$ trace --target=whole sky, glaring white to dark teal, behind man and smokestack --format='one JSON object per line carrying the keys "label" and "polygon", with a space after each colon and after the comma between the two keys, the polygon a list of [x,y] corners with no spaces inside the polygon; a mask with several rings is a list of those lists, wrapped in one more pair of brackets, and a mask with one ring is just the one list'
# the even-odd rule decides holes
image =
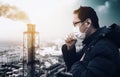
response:
{"label": "whole sky, glaring white to dark teal, behind man and smokestack", "polygon": [[93,7],[100,26],[120,24],[120,0],[0,0],[23,11],[28,22],[0,16],[0,40],[22,40],[27,23],[36,25],[41,40],[64,38],[72,32],[73,10],[79,6]]}

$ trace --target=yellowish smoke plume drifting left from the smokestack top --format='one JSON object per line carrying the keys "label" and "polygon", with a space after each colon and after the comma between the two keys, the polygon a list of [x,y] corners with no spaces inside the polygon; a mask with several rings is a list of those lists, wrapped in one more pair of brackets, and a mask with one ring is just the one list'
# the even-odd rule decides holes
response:
{"label": "yellowish smoke plume drifting left from the smokestack top", "polygon": [[9,18],[12,20],[19,20],[23,22],[29,22],[29,17],[24,11],[19,10],[16,6],[9,4],[0,4],[0,17]]}

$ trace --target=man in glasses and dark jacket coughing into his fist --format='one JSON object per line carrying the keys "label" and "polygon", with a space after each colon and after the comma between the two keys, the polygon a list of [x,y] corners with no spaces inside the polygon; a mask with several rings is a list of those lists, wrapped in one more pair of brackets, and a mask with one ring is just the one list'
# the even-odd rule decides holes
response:
{"label": "man in glasses and dark jacket coughing into his fist", "polygon": [[119,50],[105,37],[105,27],[99,27],[99,19],[91,7],[74,11],[74,27],[85,34],[83,48],[76,52],[76,38],[69,35],[62,46],[67,71],[73,77],[118,77]]}

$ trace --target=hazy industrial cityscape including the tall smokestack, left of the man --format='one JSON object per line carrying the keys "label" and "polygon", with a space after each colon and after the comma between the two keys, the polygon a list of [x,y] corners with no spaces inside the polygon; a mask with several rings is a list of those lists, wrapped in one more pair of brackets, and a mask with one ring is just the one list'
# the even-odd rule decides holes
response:
{"label": "hazy industrial cityscape including the tall smokestack, left of the man", "polygon": [[71,77],[65,72],[61,46],[42,46],[39,35],[35,24],[27,24],[22,44],[1,48],[0,77]]}

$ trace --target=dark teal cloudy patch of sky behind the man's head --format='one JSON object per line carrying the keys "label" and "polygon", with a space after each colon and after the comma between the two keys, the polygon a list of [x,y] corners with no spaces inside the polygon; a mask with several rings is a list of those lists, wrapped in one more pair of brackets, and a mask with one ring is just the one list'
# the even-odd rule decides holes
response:
{"label": "dark teal cloudy patch of sky behind the man's head", "polygon": [[120,24],[120,0],[82,0],[80,4],[96,10],[101,26]]}

